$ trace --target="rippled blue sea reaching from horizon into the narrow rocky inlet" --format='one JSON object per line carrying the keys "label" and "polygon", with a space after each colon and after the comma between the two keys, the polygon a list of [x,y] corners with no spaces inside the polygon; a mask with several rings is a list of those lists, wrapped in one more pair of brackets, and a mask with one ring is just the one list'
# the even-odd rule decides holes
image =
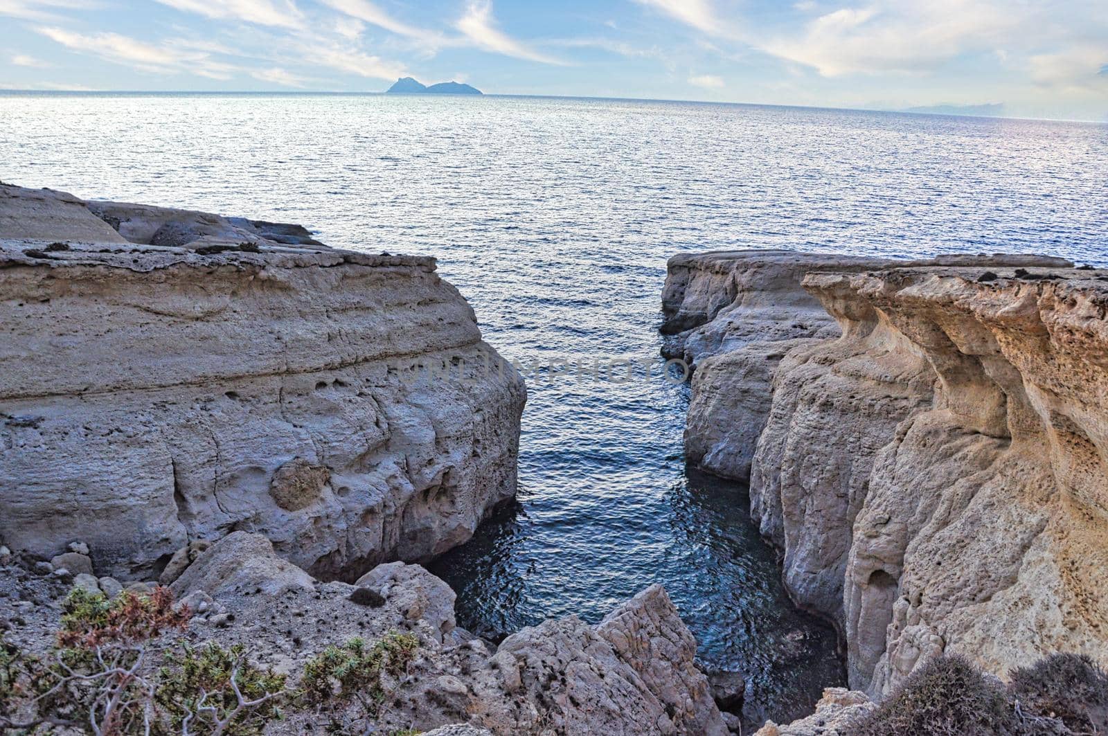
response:
{"label": "rippled blue sea reaching from horizon into the narrow rocky inlet", "polygon": [[[1108,126],[607,100],[0,95],[0,180],[299,222],[432,254],[530,361],[657,356],[666,258],[792,247],[1045,252],[1108,265]],[[689,472],[685,386],[531,381],[520,494],[433,570],[463,625],[597,621],[661,582],[763,714],[842,673],[746,490]]]}

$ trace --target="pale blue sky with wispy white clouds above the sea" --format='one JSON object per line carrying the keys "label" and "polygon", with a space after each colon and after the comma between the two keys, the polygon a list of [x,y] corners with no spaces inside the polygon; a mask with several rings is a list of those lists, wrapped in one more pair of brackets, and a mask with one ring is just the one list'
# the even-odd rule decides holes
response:
{"label": "pale blue sky with wispy white clouds above the sea", "polygon": [[1108,120],[1108,0],[0,0],[0,89],[705,100]]}

